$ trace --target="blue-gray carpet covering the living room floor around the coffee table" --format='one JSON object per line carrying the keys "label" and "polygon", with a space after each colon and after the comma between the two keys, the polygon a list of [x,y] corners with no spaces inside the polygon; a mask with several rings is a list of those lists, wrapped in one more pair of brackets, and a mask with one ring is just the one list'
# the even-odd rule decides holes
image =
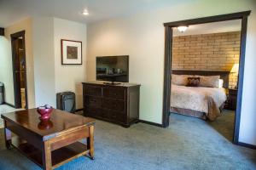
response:
{"label": "blue-gray carpet covering the living room floor around the coffee table", "polygon": [[[168,128],[143,123],[124,128],[96,121],[96,159],[80,157],[57,169],[256,169],[256,151],[231,144],[218,132],[226,128],[216,130],[216,124],[224,126],[221,122],[176,114]],[[4,148],[3,130],[0,141],[0,169],[40,169],[17,151]]]}

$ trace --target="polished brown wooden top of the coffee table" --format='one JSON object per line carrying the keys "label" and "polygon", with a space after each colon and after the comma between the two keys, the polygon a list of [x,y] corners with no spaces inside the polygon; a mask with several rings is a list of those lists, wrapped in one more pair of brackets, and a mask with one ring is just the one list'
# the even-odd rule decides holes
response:
{"label": "polished brown wooden top of the coffee table", "polygon": [[95,124],[95,121],[89,117],[74,115],[61,110],[52,111],[50,122],[52,122],[53,127],[44,130],[38,127],[40,120],[36,109],[15,111],[3,114],[1,117],[10,123],[13,122],[17,126],[26,128],[26,131],[43,140],[55,138],[63,133],[73,132],[76,128]]}

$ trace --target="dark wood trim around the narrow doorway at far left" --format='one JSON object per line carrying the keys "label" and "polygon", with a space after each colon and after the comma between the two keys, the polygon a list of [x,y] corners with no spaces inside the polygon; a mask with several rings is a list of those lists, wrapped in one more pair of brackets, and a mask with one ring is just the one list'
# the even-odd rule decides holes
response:
{"label": "dark wood trim around the narrow doorway at far left", "polygon": [[[14,41],[18,37],[22,37],[22,44],[24,48],[24,55],[25,55],[25,71],[26,71],[26,43],[25,43],[25,31],[19,31],[14,34],[10,35],[11,43],[12,43],[12,60],[13,60],[13,79],[14,79],[14,92],[15,92],[15,108],[20,108],[19,100],[16,96],[18,96],[19,91],[17,90],[17,82],[16,82],[16,74],[15,74],[15,48],[14,48]],[[28,99],[27,99],[27,81],[26,81],[26,74],[25,74],[25,95],[26,95],[26,109],[28,108]],[[21,98],[21,97],[20,97]]]}

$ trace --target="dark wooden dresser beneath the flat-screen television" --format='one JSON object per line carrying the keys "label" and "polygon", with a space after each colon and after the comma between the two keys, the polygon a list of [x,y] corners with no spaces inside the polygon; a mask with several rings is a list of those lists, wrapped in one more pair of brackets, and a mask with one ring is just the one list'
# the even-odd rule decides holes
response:
{"label": "dark wooden dresser beneath the flat-screen television", "polygon": [[113,122],[123,127],[139,119],[140,85],[83,82],[84,116]]}

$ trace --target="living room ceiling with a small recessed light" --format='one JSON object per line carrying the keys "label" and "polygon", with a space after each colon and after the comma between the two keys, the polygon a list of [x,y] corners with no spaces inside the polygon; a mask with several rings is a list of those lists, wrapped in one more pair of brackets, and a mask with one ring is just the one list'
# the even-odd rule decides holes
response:
{"label": "living room ceiling with a small recessed light", "polygon": [[[30,16],[87,23],[191,1],[195,0],[0,0],[0,27]],[[84,8],[90,15],[81,14]]]}

